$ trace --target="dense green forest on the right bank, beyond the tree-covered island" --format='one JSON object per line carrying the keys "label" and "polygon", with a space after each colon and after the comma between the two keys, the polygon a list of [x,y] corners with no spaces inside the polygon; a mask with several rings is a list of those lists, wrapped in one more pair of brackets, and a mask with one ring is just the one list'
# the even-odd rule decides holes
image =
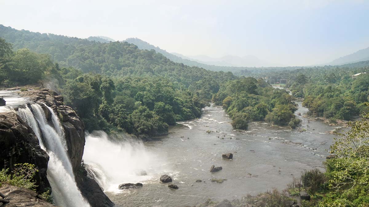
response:
{"label": "dense green forest on the right bank, beyond the tree-covered island", "polygon": [[[362,73],[359,76],[354,74]],[[366,73],[366,74],[365,74]],[[369,97],[369,62],[358,62],[340,67],[313,67],[291,71],[260,73],[271,83],[287,79],[286,87],[296,98],[304,98],[303,106],[309,115],[335,122],[351,120],[368,112],[364,102]]]}

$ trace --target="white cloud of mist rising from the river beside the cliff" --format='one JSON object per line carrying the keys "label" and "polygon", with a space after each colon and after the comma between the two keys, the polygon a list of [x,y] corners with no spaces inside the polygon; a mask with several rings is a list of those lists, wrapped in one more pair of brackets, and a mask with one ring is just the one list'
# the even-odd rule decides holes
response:
{"label": "white cloud of mist rising from the river beside the cliff", "polygon": [[109,137],[103,131],[86,135],[83,160],[100,187],[113,192],[122,183],[149,182],[168,168],[165,158],[146,149],[141,140],[127,134]]}

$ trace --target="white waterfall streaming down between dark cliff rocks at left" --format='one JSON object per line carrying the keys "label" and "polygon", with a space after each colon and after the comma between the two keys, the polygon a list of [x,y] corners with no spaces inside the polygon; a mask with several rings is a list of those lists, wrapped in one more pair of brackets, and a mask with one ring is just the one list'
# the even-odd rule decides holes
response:
{"label": "white waterfall streaming down between dark cliff rocks at left", "polygon": [[[58,206],[90,206],[80,193],[75,182],[72,164],[67,154],[62,125],[54,111],[51,113],[52,125],[47,120],[44,110],[33,103],[18,110],[18,115],[33,129],[40,146],[49,155],[47,177],[52,188],[54,202]],[[31,110],[32,109],[32,110]]]}

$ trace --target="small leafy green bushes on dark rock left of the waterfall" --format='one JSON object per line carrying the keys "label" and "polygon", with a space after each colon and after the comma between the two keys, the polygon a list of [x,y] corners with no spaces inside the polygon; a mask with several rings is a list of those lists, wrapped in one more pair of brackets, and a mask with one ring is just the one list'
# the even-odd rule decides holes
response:
{"label": "small leafy green bushes on dark rock left of the waterfall", "polygon": [[8,174],[9,168],[0,171],[0,182],[8,183],[9,185],[24,187],[35,190],[37,187],[36,181],[33,180],[38,169],[33,164],[15,164],[11,174]]}

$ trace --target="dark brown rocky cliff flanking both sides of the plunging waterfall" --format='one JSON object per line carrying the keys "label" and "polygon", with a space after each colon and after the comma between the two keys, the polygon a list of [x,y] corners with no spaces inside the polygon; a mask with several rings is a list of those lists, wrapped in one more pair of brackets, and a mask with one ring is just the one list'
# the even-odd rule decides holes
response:
{"label": "dark brown rocky cliff flanking both sides of the plunging waterfall", "polygon": [[[49,106],[59,116],[65,132],[68,155],[75,172],[77,185],[91,206],[113,206],[114,204],[104,194],[100,186],[87,175],[86,170],[81,166],[85,146],[85,124],[72,108],[64,105],[62,95],[58,95],[56,92],[46,88],[19,91],[18,93],[29,101],[39,103],[42,109],[44,109],[46,119],[49,121],[52,117],[45,105]],[[39,147],[38,139],[32,129],[12,112],[0,113],[0,124],[0,142],[9,146],[0,147],[0,160],[6,155],[7,157],[5,156],[4,159],[12,159],[12,164],[23,162],[35,164],[40,169],[39,180],[44,182],[44,184],[41,182],[39,184],[49,187],[47,179],[45,180],[48,157],[45,151]],[[3,128],[4,130],[2,130]],[[20,145],[22,143],[24,144]]]}

